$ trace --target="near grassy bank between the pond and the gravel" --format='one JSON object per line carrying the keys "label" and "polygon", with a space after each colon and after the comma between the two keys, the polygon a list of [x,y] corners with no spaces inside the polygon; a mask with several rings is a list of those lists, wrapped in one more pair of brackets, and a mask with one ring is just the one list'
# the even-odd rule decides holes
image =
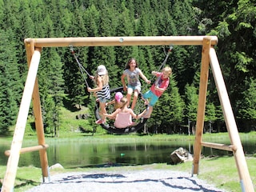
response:
{"label": "near grassy bank between the pond and the gravel", "polygon": [[[254,181],[254,188],[256,189],[256,158],[246,158],[246,162],[249,167],[250,177]],[[64,172],[93,172],[93,171],[114,171],[114,170],[147,170],[147,169],[168,169],[184,171],[191,173],[191,162],[178,164],[171,166],[167,164],[152,164],[144,166],[114,166],[106,168],[76,168],[76,169],[65,169],[65,170],[51,170],[50,174],[58,174]],[[3,178],[5,166],[0,166],[0,178]],[[239,184],[238,171],[235,166],[233,157],[222,157],[222,158],[202,158],[200,161],[200,173],[194,175],[202,180],[205,180],[219,189],[225,189],[227,191],[241,191]],[[15,182],[14,191],[22,192],[28,190],[34,186],[38,186],[42,181],[41,169],[36,167],[19,167]]]}

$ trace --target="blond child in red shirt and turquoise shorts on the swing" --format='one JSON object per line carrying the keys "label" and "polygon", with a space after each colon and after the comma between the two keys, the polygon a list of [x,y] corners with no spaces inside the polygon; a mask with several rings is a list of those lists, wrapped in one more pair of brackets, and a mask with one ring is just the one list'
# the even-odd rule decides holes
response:
{"label": "blond child in red shirt and turquoise shorts on the swing", "polygon": [[[172,70],[170,66],[166,66],[162,69],[162,72],[152,71],[151,74],[154,74],[158,78],[150,87],[150,90],[146,91],[146,93],[142,95],[142,99],[145,101],[145,104],[149,105],[149,110],[143,116],[143,118],[150,118],[154,104],[158,101],[158,98],[160,98],[160,96],[169,86],[169,77],[172,74]],[[150,99],[150,102],[148,99]]]}

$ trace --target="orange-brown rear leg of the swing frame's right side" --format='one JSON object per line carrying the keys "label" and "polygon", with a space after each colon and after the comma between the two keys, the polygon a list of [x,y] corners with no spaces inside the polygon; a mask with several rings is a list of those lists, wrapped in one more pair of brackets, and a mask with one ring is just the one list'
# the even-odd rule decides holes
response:
{"label": "orange-brown rear leg of the swing frame's right side", "polygon": [[198,114],[196,123],[196,133],[194,141],[194,162],[193,162],[193,174],[198,174],[199,160],[201,157],[201,142],[202,142],[202,130],[205,118],[206,110],[206,92],[207,83],[209,76],[209,51],[210,51],[210,37],[203,39],[202,44],[202,65],[200,72],[200,85],[199,85],[199,96],[198,96]]}

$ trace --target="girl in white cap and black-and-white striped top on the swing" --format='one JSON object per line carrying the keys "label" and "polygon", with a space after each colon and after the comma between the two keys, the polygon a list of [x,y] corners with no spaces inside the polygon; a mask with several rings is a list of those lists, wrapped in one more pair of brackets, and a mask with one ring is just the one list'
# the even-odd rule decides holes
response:
{"label": "girl in white cap and black-and-white striped top on the swing", "polygon": [[[106,67],[103,65],[98,66],[97,74],[95,75],[94,81],[97,87],[91,89],[87,87],[88,92],[94,92],[97,95],[97,101],[99,102],[100,114],[106,114],[106,101],[110,99],[110,86],[109,86],[109,75]],[[106,117],[102,116],[95,123],[102,124],[106,122]]]}

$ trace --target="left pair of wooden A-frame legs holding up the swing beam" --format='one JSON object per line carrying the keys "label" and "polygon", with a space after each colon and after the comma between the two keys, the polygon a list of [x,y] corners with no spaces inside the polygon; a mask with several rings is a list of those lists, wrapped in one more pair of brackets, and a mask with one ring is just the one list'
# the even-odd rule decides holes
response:
{"label": "left pair of wooden A-frame legs holding up the swing beam", "polygon": [[[14,182],[17,174],[19,156],[22,152],[22,142],[25,133],[26,119],[30,109],[31,98],[33,100],[35,126],[38,135],[38,145],[46,146],[42,124],[42,111],[39,98],[38,80],[36,78],[41,56],[41,50],[42,48],[40,47],[35,49],[33,41],[26,42],[26,56],[29,71],[27,74],[26,84],[22,94],[22,102],[18,111],[18,118],[14,130],[13,142],[11,143],[11,147],[9,150],[6,174],[3,180],[1,191],[9,192],[14,190]],[[40,147],[36,146],[34,148]],[[32,150],[34,149],[28,150],[28,152]],[[42,166],[42,176],[43,178],[46,178],[48,177],[48,160],[46,155],[46,147],[41,147],[41,149],[39,150],[39,156]]]}

